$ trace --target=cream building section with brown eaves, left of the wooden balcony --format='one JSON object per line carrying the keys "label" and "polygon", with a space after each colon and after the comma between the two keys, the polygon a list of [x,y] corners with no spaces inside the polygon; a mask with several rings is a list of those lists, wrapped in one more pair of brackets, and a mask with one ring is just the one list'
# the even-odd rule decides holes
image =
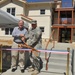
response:
{"label": "cream building section with brown eaves, left of the wooden balcony", "polygon": [[[26,2],[24,0],[1,0],[0,9],[11,13],[17,18],[25,20],[25,16],[37,20],[42,29],[42,38],[49,38],[51,32],[51,2]],[[21,16],[22,15],[22,16]],[[9,29],[12,31],[12,28]],[[1,29],[1,36],[10,36],[8,28]],[[8,34],[6,34],[8,33]]]}

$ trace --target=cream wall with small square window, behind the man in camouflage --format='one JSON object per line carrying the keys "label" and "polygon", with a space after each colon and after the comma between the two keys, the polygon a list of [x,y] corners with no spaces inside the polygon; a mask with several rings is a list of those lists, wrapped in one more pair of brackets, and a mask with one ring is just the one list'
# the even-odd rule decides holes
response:
{"label": "cream wall with small square window, behind the man in camouflage", "polygon": [[[45,14],[40,14],[40,9],[45,9]],[[44,27],[42,38],[49,38],[51,32],[51,8],[50,5],[30,5],[27,8],[28,16],[37,20],[39,27]]]}

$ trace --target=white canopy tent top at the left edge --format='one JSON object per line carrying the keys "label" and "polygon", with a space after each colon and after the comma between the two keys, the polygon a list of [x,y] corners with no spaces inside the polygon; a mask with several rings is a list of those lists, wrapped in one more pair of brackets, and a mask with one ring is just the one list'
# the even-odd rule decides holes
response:
{"label": "white canopy tent top at the left edge", "polygon": [[[18,18],[0,9],[0,27],[15,27],[18,21]],[[24,26],[28,27],[27,24]]]}

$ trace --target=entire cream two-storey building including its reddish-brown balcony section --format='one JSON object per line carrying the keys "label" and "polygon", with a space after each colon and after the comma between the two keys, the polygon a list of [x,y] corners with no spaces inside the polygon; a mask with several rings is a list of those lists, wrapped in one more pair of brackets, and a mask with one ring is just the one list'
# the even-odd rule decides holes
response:
{"label": "entire cream two-storey building including its reddish-brown balcony section", "polygon": [[[54,29],[56,42],[75,41],[74,0],[0,0],[0,9],[27,22],[37,20],[43,39]],[[11,36],[10,31],[12,28],[1,28],[0,36]]]}

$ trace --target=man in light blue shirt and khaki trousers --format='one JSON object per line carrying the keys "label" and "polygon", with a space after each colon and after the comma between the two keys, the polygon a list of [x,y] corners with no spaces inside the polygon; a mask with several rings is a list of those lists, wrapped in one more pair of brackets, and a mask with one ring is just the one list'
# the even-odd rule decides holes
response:
{"label": "man in light blue shirt and khaki trousers", "polygon": [[[27,30],[24,27],[24,21],[20,20],[18,22],[18,27],[15,27],[12,36],[14,37],[12,48],[18,48],[18,44],[23,44],[22,38],[27,34]],[[24,39],[24,38],[23,38]],[[24,54],[25,51],[18,51],[18,50],[12,50],[12,60],[11,60],[11,67],[12,72],[14,72],[17,69],[17,63],[20,66],[21,72],[24,72]],[[18,62],[17,62],[18,61]]]}

